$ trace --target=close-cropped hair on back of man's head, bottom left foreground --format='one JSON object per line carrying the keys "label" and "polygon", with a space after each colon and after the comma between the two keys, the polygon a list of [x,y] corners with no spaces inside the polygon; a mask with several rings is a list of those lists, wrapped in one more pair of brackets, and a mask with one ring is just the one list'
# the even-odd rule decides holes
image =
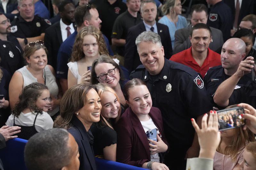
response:
{"label": "close-cropped hair on back of man's head, bottom left foreground", "polygon": [[60,170],[72,156],[68,147],[69,133],[53,128],[32,136],[25,146],[24,159],[28,170]]}

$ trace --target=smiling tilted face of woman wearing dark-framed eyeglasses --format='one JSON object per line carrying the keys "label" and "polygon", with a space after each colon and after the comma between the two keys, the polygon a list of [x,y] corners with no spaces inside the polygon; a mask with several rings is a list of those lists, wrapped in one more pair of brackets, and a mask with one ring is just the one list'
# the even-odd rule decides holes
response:
{"label": "smiling tilted face of woman wearing dark-framed eyeglasses", "polygon": [[[113,66],[110,63],[98,63],[94,67],[96,77],[99,77],[102,74],[107,74],[109,70],[112,70],[114,68],[115,68],[115,66]],[[113,75],[111,77],[107,75],[107,79],[103,80],[103,81],[98,79],[98,81],[100,83],[104,83],[112,88],[115,88],[119,84],[119,80],[120,80],[120,73],[117,68],[115,69],[115,75]]]}

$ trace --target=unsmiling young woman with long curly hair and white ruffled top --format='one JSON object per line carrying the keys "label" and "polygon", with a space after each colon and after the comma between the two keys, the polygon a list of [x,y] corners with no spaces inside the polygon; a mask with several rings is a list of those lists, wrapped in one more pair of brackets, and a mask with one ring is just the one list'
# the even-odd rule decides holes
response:
{"label": "unsmiling young woman with long curly hair and white ruffled top", "polygon": [[92,63],[102,54],[107,55],[108,50],[100,30],[94,26],[80,30],[68,63],[68,88],[90,83]]}

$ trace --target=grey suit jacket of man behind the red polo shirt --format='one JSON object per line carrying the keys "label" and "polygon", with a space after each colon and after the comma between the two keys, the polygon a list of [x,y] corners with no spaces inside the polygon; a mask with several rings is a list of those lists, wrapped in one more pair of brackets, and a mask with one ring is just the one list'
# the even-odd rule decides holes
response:
{"label": "grey suit jacket of man behind the red polo shirt", "polygon": [[[209,45],[209,48],[212,51],[218,50],[223,45],[223,36],[222,32],[219,29],[210,27],[212,31],[212,42]],[[189,35],[191,33],[192,25],[179,29],[175,32],[175,41],[174,41],[174,48],[173,54],[179,53],[185,49],[191,47],[191,42],[189,40]]]}

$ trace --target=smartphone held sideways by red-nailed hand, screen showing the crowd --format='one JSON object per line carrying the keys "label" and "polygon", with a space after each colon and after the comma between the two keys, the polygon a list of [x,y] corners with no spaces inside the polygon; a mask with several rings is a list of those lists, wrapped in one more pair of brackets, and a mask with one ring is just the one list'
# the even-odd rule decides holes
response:
{"label": "smartphone held sideways by red-nailed hand, screen showing the crowd", "polygon": [[219,131],[238,128],[245,125],[243,107],[218,110],[217,113],[219,118]]}

